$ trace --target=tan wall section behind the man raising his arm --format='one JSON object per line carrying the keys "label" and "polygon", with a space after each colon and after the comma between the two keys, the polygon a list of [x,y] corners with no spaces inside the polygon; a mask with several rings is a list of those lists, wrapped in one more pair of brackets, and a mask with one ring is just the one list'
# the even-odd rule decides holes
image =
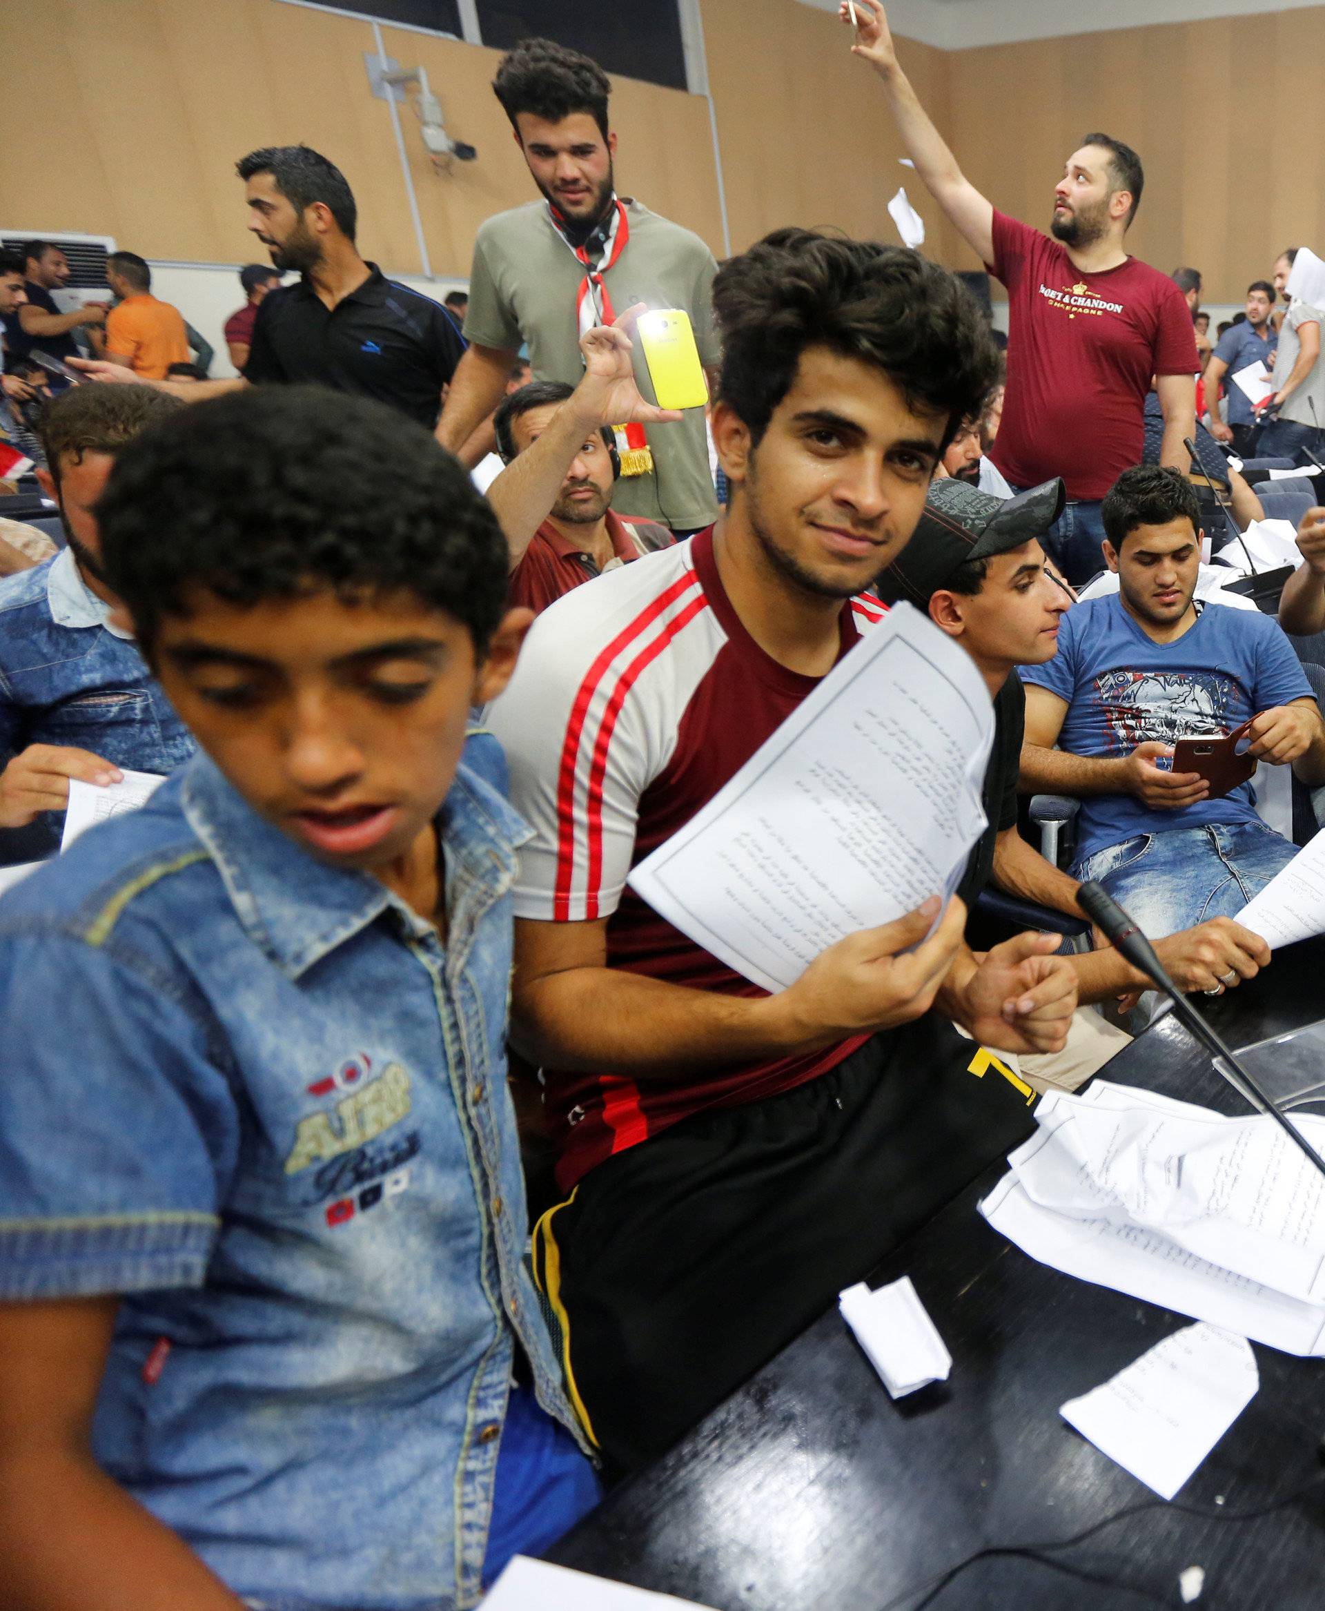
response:
{"label": "tan wall section behind the man raising his arm", "polygon": [[1127,140],[1146,169],[1129,248],[1240,303],[1285,245],[1325,255],[1325,151],[1304,124],[1275,130],[1322,53],[1325,6],[955,52],[945,132],[971,180],[1042,229],[1082,134]]}

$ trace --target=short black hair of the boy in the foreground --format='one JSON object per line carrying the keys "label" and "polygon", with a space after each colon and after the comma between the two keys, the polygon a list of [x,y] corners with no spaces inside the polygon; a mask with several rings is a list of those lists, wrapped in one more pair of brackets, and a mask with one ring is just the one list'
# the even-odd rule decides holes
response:
{"label": "short black hair of the boy in the foreground", "polygon": [[180,409],[126,445],[97,520],[148,656],[190,586],[240,606],[407,593],[480,656],[506,612],[506,538],[460,464],[383,403],[317,387]]}

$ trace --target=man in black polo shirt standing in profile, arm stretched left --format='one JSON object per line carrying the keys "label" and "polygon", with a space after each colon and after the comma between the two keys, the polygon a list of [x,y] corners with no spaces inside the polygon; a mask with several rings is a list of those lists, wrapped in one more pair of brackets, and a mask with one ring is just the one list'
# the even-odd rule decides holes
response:
{"label": "man in black polo shirt standing in profile, arm stretched left", "polygon": [[[388,280],[354,246],[356,206],[345,176],[306,145],[274,145],[237,164],[248,227],[295,285],[258,308],[241,380],[151,382],[187,403],[240,385],[322,385],[399,409],[433,430],[441,391],[465,350],[441,303]],[[80,364],[100,380],[114,366]],[[130,379],[134,379],[130,375]]]}

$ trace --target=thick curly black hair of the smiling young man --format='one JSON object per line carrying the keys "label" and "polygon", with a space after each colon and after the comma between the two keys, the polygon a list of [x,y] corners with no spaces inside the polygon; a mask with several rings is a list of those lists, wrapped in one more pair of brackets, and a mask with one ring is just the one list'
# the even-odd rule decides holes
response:
{"label": "thick curly black hair of the smiling young man", "polygon": [[755,445],[810,346],[877,364],[908,404],[947,412],[943,448],[998,383],[998,348],[976,298],[903,246],[778,229],[718,269],[713,313],[718,396]]}

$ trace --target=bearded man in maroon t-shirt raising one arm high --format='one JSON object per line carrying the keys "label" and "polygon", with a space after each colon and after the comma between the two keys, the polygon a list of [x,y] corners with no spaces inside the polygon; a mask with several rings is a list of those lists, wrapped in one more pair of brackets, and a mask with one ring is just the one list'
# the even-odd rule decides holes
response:
{"label": "bearded man in maroon t-shirt raising one arm high", "polygon": [[[848,8],[842,16],[850,24]],[[1067,507],[1048,548],[1072,583],[1104,569],[1100,504],[1141,462],[1151,377],[1164,414],[1159,462],[1183,475],[1196,429],[1196,338],[1174,282],[1124,251],[1141,200],[1137,153],[1088,134],[1055,188],[1048,235],[998,213],[966,179],[897,61],[879,0],[855,0],[853,53],[884,81],[916,172],[958,234],[1008,287],[1008,396],[992,459],[1013,487],[1061,475]]]}

